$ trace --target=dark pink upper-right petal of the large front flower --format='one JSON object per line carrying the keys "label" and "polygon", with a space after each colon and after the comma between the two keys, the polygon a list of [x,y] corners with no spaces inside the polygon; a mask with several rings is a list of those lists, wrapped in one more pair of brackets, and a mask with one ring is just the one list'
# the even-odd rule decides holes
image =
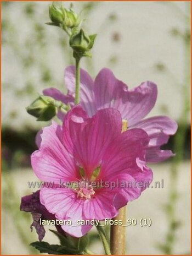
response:
{"label": "dark pink upper-right petal of the large front flower", "polygon": [[142,129],[131,129],[121,133],[105,151],[99,178],[109,180],[121,173],[137,172],[138,159],[144,160],[149,143],[148,134]]}

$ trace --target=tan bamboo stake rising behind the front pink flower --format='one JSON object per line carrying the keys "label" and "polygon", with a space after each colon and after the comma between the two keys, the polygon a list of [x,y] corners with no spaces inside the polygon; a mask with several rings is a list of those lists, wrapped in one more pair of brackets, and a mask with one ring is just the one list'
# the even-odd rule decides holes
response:
{"label": "tan bamboo stake rising behind the front pink flower", "polygon": [[[127,130],[128,123],[123,120],[122,132]],[[126,250],[126,206],[121,208],[118,215],[112,219],[122,221],[122,225],[111,225],[110,248],[113,255],[125,255]]]}

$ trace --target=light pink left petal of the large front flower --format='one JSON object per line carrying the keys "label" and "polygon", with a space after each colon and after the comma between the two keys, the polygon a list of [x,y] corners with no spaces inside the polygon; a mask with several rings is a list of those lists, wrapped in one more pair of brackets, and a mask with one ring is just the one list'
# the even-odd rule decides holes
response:
{"label": "light pink left petal of the large front flower", "polygon": [[80,177],[74,159],[61,142],[61,135],[61,127],[55,122],[44,127],[41,147],[31,155],[32,168],[42,181],[59,183]]}

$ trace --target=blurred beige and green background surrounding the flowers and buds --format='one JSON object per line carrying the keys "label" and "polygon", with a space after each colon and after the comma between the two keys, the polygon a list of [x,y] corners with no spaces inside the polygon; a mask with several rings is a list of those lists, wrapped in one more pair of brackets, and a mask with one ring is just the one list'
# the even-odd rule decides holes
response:
{"label": "blurred beige and green background surrounding the flowers and buds", "polygon": [[[48,123],[36,122],[25,107],[45,88],[65,91],[64,69],[74,63],[65,33],[45,24],[50,3],[2,2],[2,254],[38,254],[29,246],[37,241],[31,215],[19,205],[35,191],[27,187],[37,180],[30,154]],[[93,58],[82,67],[93,77],[111,68],[129,88],[154,81],[159,94],[149,116],[179,124],[166,145],[176,157],[150,165],[164,187],[127,206],[127,217],[152,221],[127,227],[127,254],[190,254],[190,2],[74,2],[74,9],[89,34],[98,34]],[[102,254],[94,230],[90,237],[90,248]],[[49,231],[44,241],[58,242]]]}

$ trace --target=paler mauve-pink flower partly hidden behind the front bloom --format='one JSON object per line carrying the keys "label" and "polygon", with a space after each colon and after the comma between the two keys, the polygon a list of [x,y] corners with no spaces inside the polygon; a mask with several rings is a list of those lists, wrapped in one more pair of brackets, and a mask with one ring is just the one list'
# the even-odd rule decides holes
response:
{"label": "paler mauve-pink flower partly hidden behind the front bloom", "polygon": [[[68,89],[67,95],[55,88],[46,89],[43,93],[74,106],[74,66],[65,70],[65,85]],[[127,119],[128,129],[144,129],[150,138],[146,152],[147,162],[163,161],[174,155],[171,150],[161,150],[160,147],[167,143],[170,135],[176,133],[177,123],[166,116],[142,120],[154,107],[157,99],[157,86],[153,82],[146,81],[133,89],[128,89],[127,85],[116,79],[108,68],[101,69],[94,81],[81,69],[80,97],[81,106],[88,116],[93,116],[97,110],[112,107],[120,111],[123,119]],[[63,118],[61,113],[59,117]]]}

